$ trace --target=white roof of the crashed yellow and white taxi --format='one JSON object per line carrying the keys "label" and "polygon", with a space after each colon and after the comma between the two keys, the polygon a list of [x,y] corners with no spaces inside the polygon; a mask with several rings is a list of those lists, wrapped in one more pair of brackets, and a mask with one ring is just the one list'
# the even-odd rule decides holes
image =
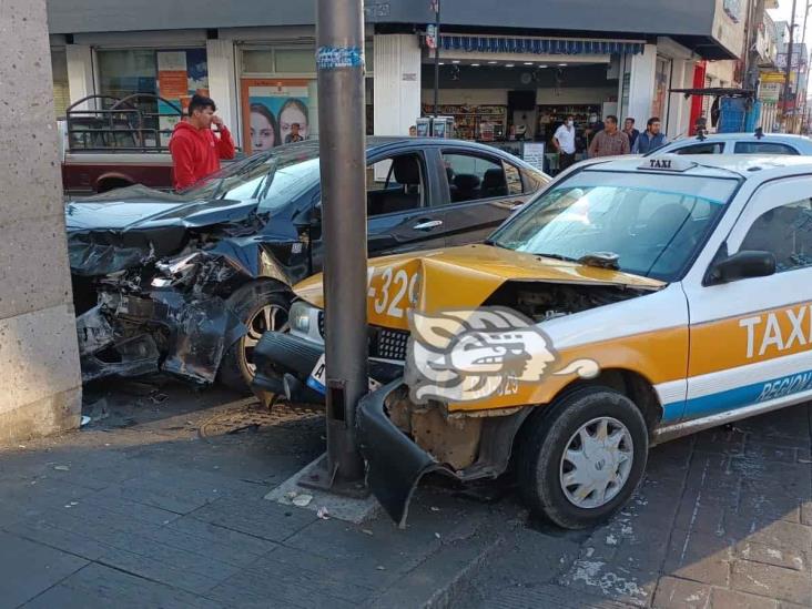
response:
{"label": "white roof of the crashed yellow and white taxi", "polygon": [[607,158],[605,162],[590,162],[583,171],[618,171],[652,173],[650,169],[641,169],[641,165],[649,163],[652,159],[668,158],[681,162],[696,163],[696,166],[683,172],[667,172],[676,175],[696,175],[702,177],[731,177],[731,173],[744,177],[764,179],[782,174],[812,174],[812,159],[809,156],[795,156],[789,154],[760,155],[760,154],[683,154],[674,155],[657,153],[651,156],[615,156]]}

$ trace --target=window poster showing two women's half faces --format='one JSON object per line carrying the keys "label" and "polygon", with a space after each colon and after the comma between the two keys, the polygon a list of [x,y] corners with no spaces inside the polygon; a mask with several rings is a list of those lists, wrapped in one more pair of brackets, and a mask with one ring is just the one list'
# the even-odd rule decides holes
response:
{"label": "window poster showing two women's half faces", "polygon": [[243,142],[247,153],[307,140],[311,89],[306,80],[243,79]]}

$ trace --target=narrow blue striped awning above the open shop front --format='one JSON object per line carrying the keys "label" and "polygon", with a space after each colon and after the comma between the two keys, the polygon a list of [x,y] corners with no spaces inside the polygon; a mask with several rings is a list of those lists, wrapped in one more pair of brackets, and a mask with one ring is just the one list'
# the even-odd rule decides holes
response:
{"label": "narrow blue striped awning above the open shop front", "polygon": [[637,40],[440,34],[440,49],[479,53],[532,53],[538,55],[639,54],[643,52],[644,45],[644,42]]}

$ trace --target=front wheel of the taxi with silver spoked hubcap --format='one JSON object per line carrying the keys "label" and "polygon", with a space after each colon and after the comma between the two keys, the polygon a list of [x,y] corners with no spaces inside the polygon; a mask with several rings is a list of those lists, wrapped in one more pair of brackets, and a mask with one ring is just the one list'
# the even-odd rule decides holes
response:
{"label": "front wheel of the taxi with silver spoked hubcap", "polygon": [[[646,422],[633,402],[608,387],[576,389],[549,408],[528,419],[521,435],[519,490],[532,512],[560,527],[593,527],[622,509],[642,480],[649,449]],[[608,445],[599,439],[603,422]],[[565,458],[568,448],[572,460]]]}

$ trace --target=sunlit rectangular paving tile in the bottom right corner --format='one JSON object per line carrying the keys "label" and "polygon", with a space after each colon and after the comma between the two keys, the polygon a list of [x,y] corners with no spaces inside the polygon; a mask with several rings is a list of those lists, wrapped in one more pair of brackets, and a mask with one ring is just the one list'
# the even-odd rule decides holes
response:
{"label": "sunlit rectangular paving tile in the bottom right corner", "polygon": [[799,605],[809,603],[812,599],[812,579],[809,574],[749,560],[733,564],[731,588]]}

